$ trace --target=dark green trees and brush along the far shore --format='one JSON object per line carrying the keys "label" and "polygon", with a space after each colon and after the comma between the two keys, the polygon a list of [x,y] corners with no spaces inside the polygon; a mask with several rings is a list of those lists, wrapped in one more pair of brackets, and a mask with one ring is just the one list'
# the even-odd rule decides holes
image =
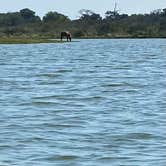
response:
{"label": "dark green trees and brush along the far shore", "polygon": [[42,19],[30,9],[0,13],[0,37],[59,38],[70,31],[75,38],[166,37],[166,9],[149,14],[120,14],[106,11],[105,17],[91,10],[81,10],[71,20],[58,12],[48,12]]}

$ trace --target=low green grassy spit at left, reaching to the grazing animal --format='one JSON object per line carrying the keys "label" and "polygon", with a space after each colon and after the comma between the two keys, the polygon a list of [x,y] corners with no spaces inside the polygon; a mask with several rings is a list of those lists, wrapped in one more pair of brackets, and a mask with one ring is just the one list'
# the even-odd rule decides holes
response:
{"label": "low green grassy spit at left, reaching to the grazing animal", "polygon": [[37,44],[37,43],[64,43],[58,39],[44,38],[0,38],[0,44]]}

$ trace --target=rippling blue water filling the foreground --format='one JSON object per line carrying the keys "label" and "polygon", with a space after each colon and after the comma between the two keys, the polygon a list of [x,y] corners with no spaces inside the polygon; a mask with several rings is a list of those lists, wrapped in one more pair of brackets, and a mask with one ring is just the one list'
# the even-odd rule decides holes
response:
{"label": "rippling blue water filling the foreground", "polygon": [[165,166],[166,40],[0,45],[1,166]]}

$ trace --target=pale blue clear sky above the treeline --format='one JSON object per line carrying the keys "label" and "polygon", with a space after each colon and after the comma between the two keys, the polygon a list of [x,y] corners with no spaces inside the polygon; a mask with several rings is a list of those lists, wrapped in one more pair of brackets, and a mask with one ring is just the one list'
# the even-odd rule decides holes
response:
{"label": "pale blue clear sky above the treeline", "polygon": [[40,17],[49,11],[57,11],[75,19],[80,9],[90,9],[104,16],[106,11],[113,10],[115,2],[120,13],[127,14],[150,13],[166,8],[166,0],[0,0],[0,13],[30,8]]}

